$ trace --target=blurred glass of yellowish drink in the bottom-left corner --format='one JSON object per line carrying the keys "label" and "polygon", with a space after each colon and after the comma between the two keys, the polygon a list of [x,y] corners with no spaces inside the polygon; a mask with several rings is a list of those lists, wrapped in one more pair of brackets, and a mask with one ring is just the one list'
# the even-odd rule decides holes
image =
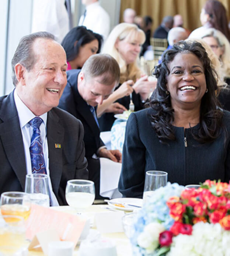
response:
{"label": "blurred glass of yellowish drink in the bottom-left corner", "polygon": [[0,216],[0,254],[14,255],[27,246],[22,216]]}

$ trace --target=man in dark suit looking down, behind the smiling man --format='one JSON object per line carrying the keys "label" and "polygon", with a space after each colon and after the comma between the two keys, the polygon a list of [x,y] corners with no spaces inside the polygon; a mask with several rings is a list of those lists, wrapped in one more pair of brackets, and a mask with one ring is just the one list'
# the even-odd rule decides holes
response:
{"label": "man in dark suit looking down, behind the smiling man", "polygon": [[60,108],[83,123],[89,179],[95,183],[97,199],[101,198],[99,157],[121,162],[121,153],[107,150],[100,139],[96,116],[97,105],[114,91],[119,77],[119,65],[113,57],[108,54],[92,55],[81,70],[67,71],[67,85],[59,103]]}

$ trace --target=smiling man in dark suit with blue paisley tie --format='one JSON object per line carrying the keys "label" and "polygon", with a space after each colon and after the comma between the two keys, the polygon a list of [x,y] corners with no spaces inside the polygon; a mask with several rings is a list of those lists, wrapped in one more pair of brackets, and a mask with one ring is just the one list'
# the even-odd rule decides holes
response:
{"label": "smiling man in dark suit with blue paisley tie", "polygon": [[0,97],[0,193],[24,191],[25,176],[50,176],[52,205],[66,204],[69,179],[87,179],[83,126],[56,108],[66,85],[66,54],[52,34],[21,39],[12,59],[15,89]]}

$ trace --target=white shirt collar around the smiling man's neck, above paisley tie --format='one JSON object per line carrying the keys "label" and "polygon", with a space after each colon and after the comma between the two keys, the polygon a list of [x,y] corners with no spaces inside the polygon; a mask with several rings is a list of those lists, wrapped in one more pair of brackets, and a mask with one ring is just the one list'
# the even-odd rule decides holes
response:
{"label": "white shirt collar around the smiling man's neck, above paisley tie", "polygon": [[[26,124],[28,124],[28,122],[31,119],[36,117],[36,115],[34,115],[31,112],[31,110],[29,110],[29,108],[22,102],[16,90],[14,90],[14,101],[15,101],[17,112],[18,112],[20,127],[23,128]],[[47,112],[45,114],[40,115],[39,117],[42,118],[46,127]]]}

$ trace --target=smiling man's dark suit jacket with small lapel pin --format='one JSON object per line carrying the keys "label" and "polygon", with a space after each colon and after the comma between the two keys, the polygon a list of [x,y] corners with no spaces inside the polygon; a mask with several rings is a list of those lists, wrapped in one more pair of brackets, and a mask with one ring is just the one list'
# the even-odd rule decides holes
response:
{"label": "smiling man's dark suit jacket with small lapel pin", "polygon": [[[53,192],[63,205],[67,181],[88,178],[83,126],[69,113],[53,108],[47,115],[47,140]],[[0,166],[0,193],[24,191],[27,169],[13,92],[0,97]]]}

